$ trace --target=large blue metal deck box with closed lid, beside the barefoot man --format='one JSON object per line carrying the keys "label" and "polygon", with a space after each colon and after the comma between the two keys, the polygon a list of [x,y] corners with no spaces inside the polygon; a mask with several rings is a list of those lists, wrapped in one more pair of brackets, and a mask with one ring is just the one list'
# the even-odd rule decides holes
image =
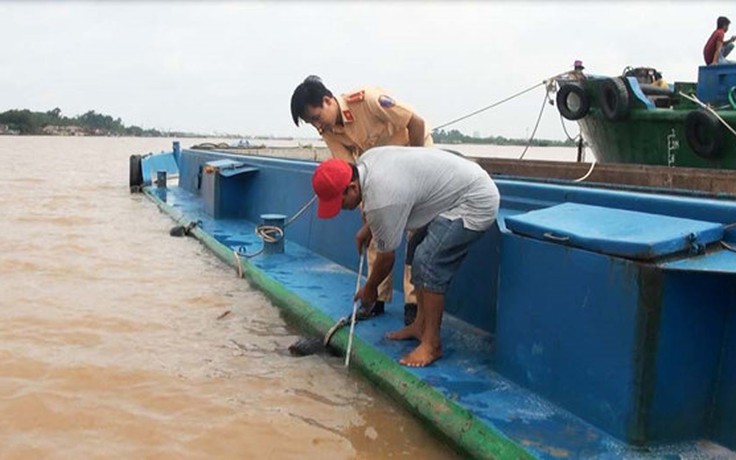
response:
{"label": "large blue metal deck box with closed lid, beside the barefoot man", "polygon": [[662,266],[717,254],[722,224],[577,203],[505,224],[501,374],[629,443],[734,442],[733,277]]}

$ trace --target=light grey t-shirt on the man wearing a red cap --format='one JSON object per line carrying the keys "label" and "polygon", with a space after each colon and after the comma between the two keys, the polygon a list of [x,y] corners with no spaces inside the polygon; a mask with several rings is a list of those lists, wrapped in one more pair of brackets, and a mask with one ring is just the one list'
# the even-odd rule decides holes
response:
{"label": "light grey t-shirt on the man wearing a red cap", "polygon": [[376,249],[401,244],[404,230],[437,216],[483,231],[498,214],[496,184],[480,166],[434,147],[375,147],[357,162],[363,211]]}

